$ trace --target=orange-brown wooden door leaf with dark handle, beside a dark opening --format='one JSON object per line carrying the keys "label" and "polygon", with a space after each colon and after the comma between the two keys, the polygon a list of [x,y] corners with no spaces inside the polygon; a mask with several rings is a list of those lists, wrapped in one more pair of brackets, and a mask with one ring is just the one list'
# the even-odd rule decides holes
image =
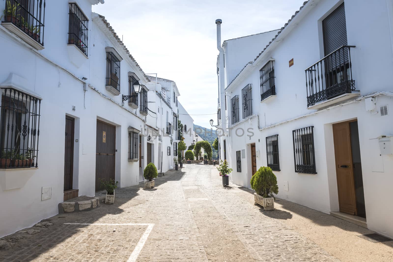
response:
{"label": "orange-brown wooden door leaf with dark handle, beside a dark opening", "polygon": [[349,122],[333,125],[340,212],[357,215]]}

